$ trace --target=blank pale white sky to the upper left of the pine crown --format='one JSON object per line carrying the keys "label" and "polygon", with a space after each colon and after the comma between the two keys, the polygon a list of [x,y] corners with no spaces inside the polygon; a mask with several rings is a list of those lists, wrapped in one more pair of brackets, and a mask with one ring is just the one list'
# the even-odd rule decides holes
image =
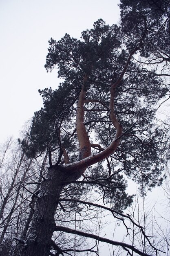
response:
{"label": "blank pale white sky to the upper left of the pine crown", "polygon": [[119,0],[0,0],[0,142],[42,107],[38,89],[58,85],[44,68],[49,39],[79,38],[93,22],[119,21]]}

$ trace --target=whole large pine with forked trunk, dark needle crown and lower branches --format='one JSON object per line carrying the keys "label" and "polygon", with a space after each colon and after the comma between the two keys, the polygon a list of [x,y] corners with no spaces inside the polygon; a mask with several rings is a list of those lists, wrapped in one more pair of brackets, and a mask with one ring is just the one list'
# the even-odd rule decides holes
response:
{"label": "whole large pine with forked trunk, dark needle crown and lower branches", "polygon": [[[69,244],[60,248],[58,231],[147,255],[132,245],[77,230],[75,221],[71,227],[59,223],[62,211],[65,214],[62,202],[76,214],[78,203],[107,210],[110,205],[112,214],[124,221],[128,217],[122,212],[132,203],[126,176],[140,185],[142,193],[163,180],[165,132],[156,127],[155,112],[169,90],[163,79],[168,76],[169,52],[162,38],[169,40],[170,4],[159,2],[121,1],[119,27],[99,19],[93,29],[82,32],[81,40],[66,34],[58,42],[49,41],[46,70],[57,66],[64,80],[55,91],[40,91],[44,107],[35,112],[29,140],[21,141],[27,157],[38,159],[47,151],[49,155],[42,180],[27,182],[40,185],[40,190],[35,194],[29,189],[36,204],[31,228],[24,238],[16,238],[23,245],[21,255],[53,255],[52,249],[59,255],[78,249],[75,237],[71,248]],[[77,199],[91,188],[107,207]],[[68,217],[70,221],[71,214]]]}

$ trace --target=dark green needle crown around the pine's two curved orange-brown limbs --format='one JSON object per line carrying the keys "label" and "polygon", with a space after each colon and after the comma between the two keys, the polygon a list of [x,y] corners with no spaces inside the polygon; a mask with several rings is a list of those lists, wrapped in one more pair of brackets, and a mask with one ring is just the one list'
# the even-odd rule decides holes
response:
{"label": "dark green needle crown around the pine's two curved orange-brown limbs", "polygon": [[[122,0],[121,5],[128,2],[132,1]],[[30,157],[37,157],[50,146],[55,164],[62,145],[71,161],[76,161],[76,108],[83,77],[88,74],[86,99],[95,101],[85,104],[84,123],[92,143],[102,148],[109,146],[115,133],[109,117],[110,84],[119,77],[130,51],[142,45],[116,89],[115,113],[126,132],[113,155],[84,173],[88,180],[99,179],[102,185],[95,184],[96,191],[120,211],[132,202],[132,196],[125,192],[126,175],[137,181],[141,189],[162,182],[164,131],[155,126],[155,110],[168,91],[161,77],[155,75],[154,65],[148,67],[135,60],[139,54],[146,59],[152,52],[153,47],[148,50],[143,45],[151,35],[154,37],[155,27],[146,29],[142,13],[137,18],[132,16],[130,24],[127,23],[124,19],[130,17],[131,9],[130,6],[121,12],[123,28],[106,25],[99,19],[93,29],[82,32],[80,40],[68,34],[59,41],[51,38],[45,68],[48,72],[57,67],[58,77],[64,80],[56,90],[40,91],[44,107],[33,117],[31,142],[28,145],[22,141]],[[134,27],[132,32],[129,26]],[[95,147],[92,153],[99,150]]]}

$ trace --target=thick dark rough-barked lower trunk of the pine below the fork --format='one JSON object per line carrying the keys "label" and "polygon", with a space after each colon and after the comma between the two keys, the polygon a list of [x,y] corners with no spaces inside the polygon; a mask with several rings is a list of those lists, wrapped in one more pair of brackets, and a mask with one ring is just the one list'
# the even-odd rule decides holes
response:
{"label": "thick dark rough-barked lower trunk of the pine below the fork", "polygon": [[77,180],[81,172],[68,173],[62,166],[49,168],[35,206],[33,222],[23,245],[21,256],[49,256],[51,237],[55,231],[55,210],[64,187],[63,181]]}

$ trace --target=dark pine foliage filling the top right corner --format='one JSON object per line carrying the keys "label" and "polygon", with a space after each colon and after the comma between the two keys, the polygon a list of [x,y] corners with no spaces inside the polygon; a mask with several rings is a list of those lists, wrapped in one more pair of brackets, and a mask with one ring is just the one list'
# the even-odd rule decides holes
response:
{"label": "dark pine foliage filling the top right corner", "polygon": [[120,0],[119,7],[128,45],[143,38],[142,56],[170,61],[170,0]]}

